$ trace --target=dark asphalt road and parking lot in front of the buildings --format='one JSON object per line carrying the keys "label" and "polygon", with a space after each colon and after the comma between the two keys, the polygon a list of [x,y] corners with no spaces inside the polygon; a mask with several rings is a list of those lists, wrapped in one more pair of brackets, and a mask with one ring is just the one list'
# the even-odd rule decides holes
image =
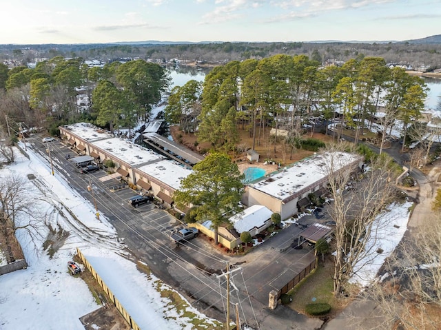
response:
{"label": "dark asphalt road and parking lot in front of the buildings", "polygon": [[[65,178],[92,205],[96,203],[99,213],[109,218],[136,259],[145,262],[163,282],[181,291],[205,315],[225,320],[226,285],[225,276],[220,274],[228,262],[232,269],[237,269],[231,278],[232,307],[236,302],[240,305],[241,319],[250,327],[312,330],[322,325],[321,320],[307,318],[284,306],[274,311],[267,307],[269,291],[280,289],[314,260],[311,248],[296,250],[291,247],[302,231],[300,227],[291,225],[245,256],[224,254],[202,238],[176,247],[170,240],[170,232],[182,224],[168,212],[152,203],[132,207],[127,200],[135,193],[128,187],[110,190],[121,183],[116,180],[101,182],[99,178],[107,175],[102,170],[81,174],[67,159],[68,155],[77,155],[59,139],[42,143],[41,137],[35,136],[28,138],[28,142],[46,159],[49,171],[52,170],[47,150],[50,148],[57,175]],[[92,192],[88,190],[89,185],[92,185]]]}

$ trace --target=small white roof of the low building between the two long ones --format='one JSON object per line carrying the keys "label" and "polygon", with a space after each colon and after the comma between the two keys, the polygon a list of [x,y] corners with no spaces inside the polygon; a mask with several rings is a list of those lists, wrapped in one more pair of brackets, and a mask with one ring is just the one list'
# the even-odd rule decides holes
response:
{"label": "small white roof of the low building between the two long ones", "polygon": [[263,205],[253,205],[244,209],[243,212],[235,214],[229,220],[234,229],[240,234],[243,231],[251,231],[254,227],[259,228],[265,225],[265,221],[271,218],[270,209]]}

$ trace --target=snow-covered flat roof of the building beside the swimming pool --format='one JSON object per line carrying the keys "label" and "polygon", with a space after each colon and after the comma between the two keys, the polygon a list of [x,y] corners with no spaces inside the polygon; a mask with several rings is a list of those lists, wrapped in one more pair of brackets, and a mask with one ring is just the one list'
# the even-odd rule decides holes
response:
{"label": "snow-covered flat roof of the building beside the swimming pool", "polygon": [[[326,171],[324,165],[326,165],[329,156],[331,156],[329,153],[324,153],[305,158],[294,163],[291,167],[285,167],[278,172],[273,172],[269,174],[269,177],[263,177],[261,181],[249,186],[280,200],[285,200],[289,196],[325,178]],[[336,161],[337,159],[339,161]],[[361,156],[346,152],[334,152],[334,160],[334,168],[337,170],[350,163],[360,161]]]}

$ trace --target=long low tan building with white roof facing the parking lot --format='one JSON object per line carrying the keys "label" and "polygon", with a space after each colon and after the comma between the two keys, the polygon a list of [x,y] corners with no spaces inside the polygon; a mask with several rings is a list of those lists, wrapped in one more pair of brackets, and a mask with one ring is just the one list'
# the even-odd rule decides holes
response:
{"label": "long low tan building with white roof facing the parking lot", "polygon": [[115,137],[90,123],[59,127],[61,138],[77,152],[92,156],[96,162],[112,160],[116,173],[164,203],[172,206],[173,194],[181,180],[192,170],[165,156]]}

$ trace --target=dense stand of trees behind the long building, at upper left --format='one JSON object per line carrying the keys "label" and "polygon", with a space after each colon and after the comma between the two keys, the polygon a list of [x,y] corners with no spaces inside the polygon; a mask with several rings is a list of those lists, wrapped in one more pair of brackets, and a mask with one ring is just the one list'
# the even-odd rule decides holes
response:
{"label": "dense stand of trees behind the long building, at upper left", "polygon": [[[143,60],[92,68],[63,56],[35,68],[0,63],[0,123],[6,127],[8,116],[11,125],[24,122],[56,134],[59,125],[90,121],[113,132],[148,118],[169,83],[165,68]],[[83,105],[79,95],[87,99]]]}

